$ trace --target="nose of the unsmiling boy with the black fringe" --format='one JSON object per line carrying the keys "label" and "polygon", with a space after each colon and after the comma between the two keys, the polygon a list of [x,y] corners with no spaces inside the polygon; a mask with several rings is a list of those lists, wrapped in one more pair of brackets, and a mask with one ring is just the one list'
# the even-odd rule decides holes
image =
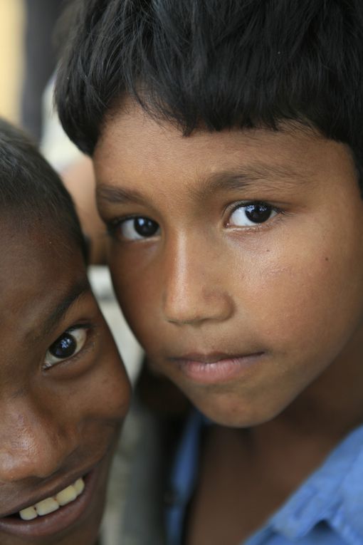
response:
{"label": "nose of the unsmiling boy with the black fringe", "polygon": [[219,259],[202,248],[202,243],[198,247],[193,240],[181,238],[170,246],[164,250],[162,275],[167,321],[197,325],[230,318],[233,300],[223,285]]}

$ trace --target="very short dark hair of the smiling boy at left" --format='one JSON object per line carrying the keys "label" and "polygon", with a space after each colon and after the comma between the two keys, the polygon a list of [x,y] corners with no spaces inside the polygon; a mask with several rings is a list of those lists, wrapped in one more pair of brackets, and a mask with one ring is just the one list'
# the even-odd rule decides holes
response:
{"label": "very short dark hair of the smiling boy at left", "polygon": [[88,248],[73,201],[61,179],[18,128],[0,118],[0,214],[14,229],[49,226],[80,247]]}

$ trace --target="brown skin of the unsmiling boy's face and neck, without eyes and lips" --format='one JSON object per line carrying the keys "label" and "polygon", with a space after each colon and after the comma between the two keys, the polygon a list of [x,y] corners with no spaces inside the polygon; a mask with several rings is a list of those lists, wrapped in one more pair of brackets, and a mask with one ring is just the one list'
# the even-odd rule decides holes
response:
{"label": "brown skin of the unsmiling boy's face and neck, without eyes and lips", "polygon": [[[207,442],[189,532],[190,544],[233,544],[363,420],[363,201],[352,155],[288,125],[184,137],[128,101],[105,123],[94,165],[115,289],[152,368],[236,428]],[[246,225],[251,202],[274,213]],[[159,229],[136,238],[130,217]],[[261,355],[213,384],[172,359],[215,351]],[[226,474],[216,478],[223,460],[227,490]],[[265,501],[251,504],[262,471]]]}

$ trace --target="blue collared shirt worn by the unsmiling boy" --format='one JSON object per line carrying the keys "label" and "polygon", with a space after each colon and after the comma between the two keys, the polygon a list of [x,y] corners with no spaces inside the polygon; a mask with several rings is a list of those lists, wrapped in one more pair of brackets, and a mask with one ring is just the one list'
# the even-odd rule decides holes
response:
{"label": "blue collared shirt worn by the unsmiling boy", "polygon": [[[205,419],[187,422],[171,476],[176,501],[166,512],[168,545],[181,545],[186,506],[194,492],[199,437]],[[363,545],[363,426],[243,545]],[[238,545],[238,544],[236,544]],[[241,544],[242,545],[242,544]]]}

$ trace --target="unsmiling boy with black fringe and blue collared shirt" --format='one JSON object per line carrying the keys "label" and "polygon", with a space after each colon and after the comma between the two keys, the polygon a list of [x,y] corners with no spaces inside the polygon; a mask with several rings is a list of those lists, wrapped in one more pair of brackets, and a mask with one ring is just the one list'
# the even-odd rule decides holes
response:
{"label": "unsmiling boy with black fringe and blue collared shirt", "polygon": [[56,99],[117,296],[214,422],[186,428],[169,542],[362,544],[362,2],[84,0],[73,21]]}

